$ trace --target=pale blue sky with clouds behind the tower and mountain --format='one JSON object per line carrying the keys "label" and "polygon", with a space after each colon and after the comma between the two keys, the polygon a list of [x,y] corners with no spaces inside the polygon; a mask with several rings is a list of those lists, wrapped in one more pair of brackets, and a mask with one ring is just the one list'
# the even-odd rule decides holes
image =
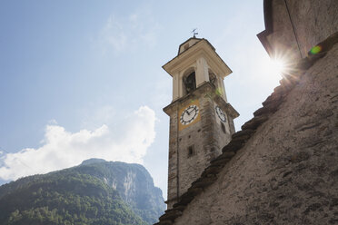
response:
{"label": "pale blue sky with clouds behind the tower and mountain", "polygon": [[143,164],[166,198],[162,65],[194,28],[233,71],[239,131],[281,79],[256,37],[263,0],[0,0],[0,184],[101,158]]}

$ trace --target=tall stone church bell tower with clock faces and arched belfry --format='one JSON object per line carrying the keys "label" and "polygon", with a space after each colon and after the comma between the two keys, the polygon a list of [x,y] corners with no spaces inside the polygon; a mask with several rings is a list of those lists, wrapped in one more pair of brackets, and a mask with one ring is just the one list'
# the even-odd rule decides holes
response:
{"label": "tall stone church bell tower with clock faces and arched belfry", "polygon": [[173,101],[164,108],[170,116],[166,203],[171,209],[230,142],[239,113],[224,89],[224,77],[232,71],[206,39],[185,41],[163,68],[173,77]]}

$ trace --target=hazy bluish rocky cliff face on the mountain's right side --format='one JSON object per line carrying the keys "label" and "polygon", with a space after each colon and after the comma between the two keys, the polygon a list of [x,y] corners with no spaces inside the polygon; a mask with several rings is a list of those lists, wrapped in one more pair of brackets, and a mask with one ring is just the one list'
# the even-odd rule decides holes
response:
{"label": "hazy bluish rocky cliff face on the mountain's right side", "polygon": [[162,191],[154,187],[153,178],[140,164],[91,159],[74,169],[97,177],[118,191],[124,202],[147,222],[157,220],[165,210]]}

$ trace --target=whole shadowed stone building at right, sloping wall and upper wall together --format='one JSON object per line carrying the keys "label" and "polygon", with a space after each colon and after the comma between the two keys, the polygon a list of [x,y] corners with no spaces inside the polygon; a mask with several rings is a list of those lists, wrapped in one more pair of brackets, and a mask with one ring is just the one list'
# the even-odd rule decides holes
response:
{"label": "whole shadowed stone building at right, sloping wall and upper wall together", "polygon": [[263,3],[281,85],[157,224],[338,224],[338,1]]}

